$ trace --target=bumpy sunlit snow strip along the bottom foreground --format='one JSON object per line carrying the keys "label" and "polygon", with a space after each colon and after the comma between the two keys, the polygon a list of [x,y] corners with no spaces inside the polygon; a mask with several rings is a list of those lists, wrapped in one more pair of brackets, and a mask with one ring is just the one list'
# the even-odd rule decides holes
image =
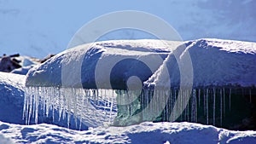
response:
{"label": "bumpy sunlit snow strip along the bottom foreground", "polygon": [[128,127],[68,130],[51,124],[17,125],[0,122],[0,136],[15,143],[175,143],[215,144],[256,142],[255,131],[232,131],[190,123],[150,123]]}

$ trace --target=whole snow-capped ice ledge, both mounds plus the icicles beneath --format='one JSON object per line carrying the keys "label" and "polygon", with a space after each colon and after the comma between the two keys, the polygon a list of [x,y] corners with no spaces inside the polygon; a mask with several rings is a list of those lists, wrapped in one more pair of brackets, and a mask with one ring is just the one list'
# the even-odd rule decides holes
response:
{"label": "whole snow-capped ice ledge, both mounds plus the icicles beneath", "polygon": [[[90,126],[143,121],[225,126],[231,123],[225,118],[241,121],[247,117],[247,110],[251,111],[247,101],[252,102],[256,93],[255,43],[218,39],[199,39],[182,45],[166,42],[172,48],[162,43],[90,43],[68,49],[33,68],[26,75],[27,124],[31,117],[37,120],[38,108],[43,108],[46,116],[57,110],[59,117],[54,120],[67,117],[68,123],[72,114],[86,119],[82,123]],[[180,72],[179,66],[186,61],[188,52],[192,77]],[[241,118],[232,115],[236,112],[233,103],[244,108]],[[63,115],[65,112],[67,116]]]}

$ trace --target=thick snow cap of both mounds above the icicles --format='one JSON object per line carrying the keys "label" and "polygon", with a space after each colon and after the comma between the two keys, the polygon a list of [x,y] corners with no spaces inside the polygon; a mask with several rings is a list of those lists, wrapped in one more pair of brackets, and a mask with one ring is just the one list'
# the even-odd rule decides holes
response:
{"label": "thick snow cap of both mounds above the icicles", "polygon": [[[171,83],[172,87],[178,87],[180,66],[177,59],[186,61],[186,52],[192,62],[193,87],[256,85],[256,43],[219,39],[199,39],[182,44],[162,40],[88,43],[68,49],[33,68],[26,76],[26,85],[79,87],[82,84],[83,88],[124,89],[128,77],[136,75],[146,85],[166,87]],[[96,72],[99,61],[100,71]],[[73,64],[77,68],[71,68]],[[63,66],[69,67],[69,71],[64,72],[65,83],[61,79]],[[169,73],[166,74],[164,68]],[[183,76],[185,82],[190,78],[186,73]]]}

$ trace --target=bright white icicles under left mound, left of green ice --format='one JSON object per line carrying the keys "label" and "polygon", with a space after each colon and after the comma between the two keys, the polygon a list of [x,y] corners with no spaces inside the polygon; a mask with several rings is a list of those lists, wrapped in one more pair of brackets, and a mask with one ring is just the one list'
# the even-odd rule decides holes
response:
{"label": "bright white icicles under left mound, left of green ice", "polygon": [[[75,118],[77,128],[81,124],[77,124],[76,119],[92,127],[110,124],[117,112],[114,95],[112,89],[26,87],[23,117],[26,124],[30,124],[31,117],[38,124],[39,114],[51,118],[53,122],[67,117],[67,127],[71,115]],[[38,113],[38,108],[43,113]],[[59,112],[58,118],[55,118],[54,112]]]}

